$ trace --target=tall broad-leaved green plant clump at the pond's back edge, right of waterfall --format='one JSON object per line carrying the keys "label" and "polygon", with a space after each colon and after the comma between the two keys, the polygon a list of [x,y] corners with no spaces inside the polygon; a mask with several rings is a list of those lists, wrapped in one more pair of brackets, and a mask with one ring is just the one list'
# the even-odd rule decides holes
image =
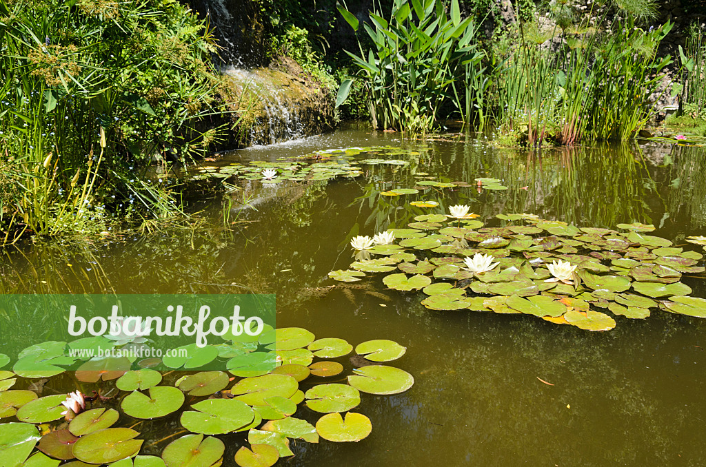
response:
{"label": "tall broad-leaved green plant clump at the pond's back edge, right of waterfall", "polygon": [[[359,27],[345,8],[339,11]],[[360,55],[347,51],[366,83],[373,126],[414,137],[431,130],[444,104],[453,102],[463,115],[468,106],[457,85],[468,87],[482,57],[474,20],[461,20],[457,0],[395,0],[388,20],[382,15],[376,9],[363,25],[372,48],[359,42]]]}

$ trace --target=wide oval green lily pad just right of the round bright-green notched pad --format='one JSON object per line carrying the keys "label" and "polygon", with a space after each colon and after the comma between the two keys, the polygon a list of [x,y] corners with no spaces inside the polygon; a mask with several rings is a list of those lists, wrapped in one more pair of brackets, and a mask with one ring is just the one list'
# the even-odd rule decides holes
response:
{"label": "wide oval green lily pad just right of the round bright-green notched pad", "polygon": [[206,399],[193,404],[194,411],[181,414],[181,426],[203,435],[223,435],[249,425],[255,417],[253,409],[236,399]]}

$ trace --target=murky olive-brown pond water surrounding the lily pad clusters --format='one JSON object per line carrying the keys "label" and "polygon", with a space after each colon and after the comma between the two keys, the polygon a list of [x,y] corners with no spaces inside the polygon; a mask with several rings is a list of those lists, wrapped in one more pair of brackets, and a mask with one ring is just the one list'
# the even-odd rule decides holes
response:
{"label": "murky olive-brown pond water surrounding the lily pad clusters", "polygon": [[[304,327],[354,345],[392,339],[406,346],[405,356],[391,364],[414,375],[414,387],[394,396],[362,395],[357,411],[371,418],[371,435],[358,443],[293,442],[296,455],[280,460],[288,466],[706,465],[706,320],[654,309],[645,320],[617,316],[615,329],[587,332],[528,315],[428,310],[419,303],[424,294],[385,289],[381,274],[352,283],[327,275],[353,261],[352,236],[445,212],[409,206],[419,199],[442,207],[467,204],[489,226],[501,225],[496,214],[514,212],[579,227],[654,224],[654,235],[700,251],[683,239],[706,232],[702,148],[634,145],[530,154],[493,149],[482,138],[403,142],[350,127],[232,152],[217,165],[385,145],[403,148],[395,157],[409,164],[363,165],[358,178],[309,184],[242,181],[225,200],[189,200],[207,219],[193,229],[155,225],[152,233],[120,239],[9,248],[1,289],[276,293],[278,327]],[[369,157],[375,156],[354,159]],[[472,186],[379,195],[412,188],[425,176],[420,173]],[[509,189],[478,190],[474,178],[480,177],[499,178]],[[223,227],[224,209],[232,229]],[[692,275],[683,281],[694,296],[705,297],[705,281],[696,277],[703,274]],[[37,323],[23,326],[37,329]],[[347,358],[338,360],[349,370]],[[67,381],[49,386],[66,392],[73,389],[61,387]],[[297,416],[318,418],[307,408]],[[124,426],[132,424],[124,420]],[[145,445],[177,428],[177,418],[166,430],[163,423],[145,423]],[[245,437],[220,438],[227,444],[223,465],[234,466]],[[149,454],[159,455],[164,445],[154,444]]]}

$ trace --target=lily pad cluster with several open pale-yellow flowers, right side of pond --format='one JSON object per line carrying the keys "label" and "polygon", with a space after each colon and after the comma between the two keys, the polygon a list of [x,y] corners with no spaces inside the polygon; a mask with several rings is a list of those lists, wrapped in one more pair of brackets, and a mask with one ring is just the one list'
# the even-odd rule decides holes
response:
{"label": "lily pad cluster with several open pale-yellow flowers, right side of pond", "polygon": [[[702,254],[648,235],[652,225],[579,228],[522,213],[498,214],[505,225],[486,227],[468,210],[453,206],[407,228],[353,238],[356,261],[329,277],[388,273],[385,286],[421,290],[431,310],[525,313],[590,331],[613,329],[615,315],[645,318],[654,309],[706,317],[706,300],[681,282],[704,272]],[[687,241],[706,248],[706,237]]]}

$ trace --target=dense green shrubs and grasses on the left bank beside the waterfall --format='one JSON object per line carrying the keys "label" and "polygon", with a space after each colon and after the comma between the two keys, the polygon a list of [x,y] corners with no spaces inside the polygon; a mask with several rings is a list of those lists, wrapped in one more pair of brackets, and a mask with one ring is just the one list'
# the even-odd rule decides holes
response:
{"label": "dense green shrubs and grasses on the left bank beside the waterfall", "polygon": [[105,205],[174,212],[145,167],[217,138],[189,123],[220,83],[201,20],[174,0],[0,0],[0,44],[4,226],[58,233]]}

